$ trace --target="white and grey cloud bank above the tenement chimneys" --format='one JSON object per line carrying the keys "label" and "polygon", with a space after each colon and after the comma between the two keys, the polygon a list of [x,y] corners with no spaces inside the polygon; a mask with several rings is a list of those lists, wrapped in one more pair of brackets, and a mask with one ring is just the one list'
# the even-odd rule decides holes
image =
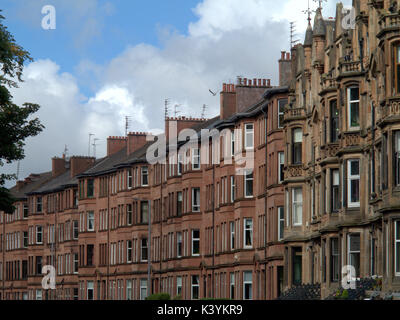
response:
{"label": "white and grey cloud bank above the tenement chimneys", "polygon": [[[96,0],[85,2],[71,22],[90,21],[93,6],[98,6]],[[207,104],[206,116],[212,117],[219,112],[219,96],[208,90],[219,92],[223,82],[242,75],[271,78],[277,85],[277,60],[289,48],[289,21],[298,22],[302,41],[307,20],[301,10],[306,8],[305,0],[204,0],[194,9],[198,20],[188,26],[187,35],[160,33],[162,48],[131,46],[102,66],[84,60],[75,70],[79,81],[60,73],[55,62],[30,64],[26,82],[13,93],[19,104],[42,106],[39,117],[46,129],[29,139],[21,176],[48,170],[50,158],[60,155],[65,144],[70,154],[87,154],[89,132],[100,139],[97,155],[104,156],[107,136],[124,134],[127,115],[132,117],[131,131],[160,133],[164,99],[170,99],[170,115],[179,104],[180,115],[199,117]],[[97,10],[112,14],[113,7]],[[329,1],[324,15],[334,13],[335,3]],[[90,30],[80,34],[83,39],[93,35]],[[96,88],[88,99],[80,92],[82,81]]]}

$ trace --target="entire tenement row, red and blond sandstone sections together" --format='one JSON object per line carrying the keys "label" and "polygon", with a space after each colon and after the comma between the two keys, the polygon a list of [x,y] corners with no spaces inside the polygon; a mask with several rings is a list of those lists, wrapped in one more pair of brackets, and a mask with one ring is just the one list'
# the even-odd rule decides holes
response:
{"label": "entire tenement row, red and blond sandstone sections together", "polygon": [[167,118],[165,163],[146,157],[161,137],[136,132],[18,182],[1,299],[275,299],[306,283],[324,298],[348,265],[399,290],[400,6],[354,9],[317,10],[279,86],[238,78],[218,117]]}

